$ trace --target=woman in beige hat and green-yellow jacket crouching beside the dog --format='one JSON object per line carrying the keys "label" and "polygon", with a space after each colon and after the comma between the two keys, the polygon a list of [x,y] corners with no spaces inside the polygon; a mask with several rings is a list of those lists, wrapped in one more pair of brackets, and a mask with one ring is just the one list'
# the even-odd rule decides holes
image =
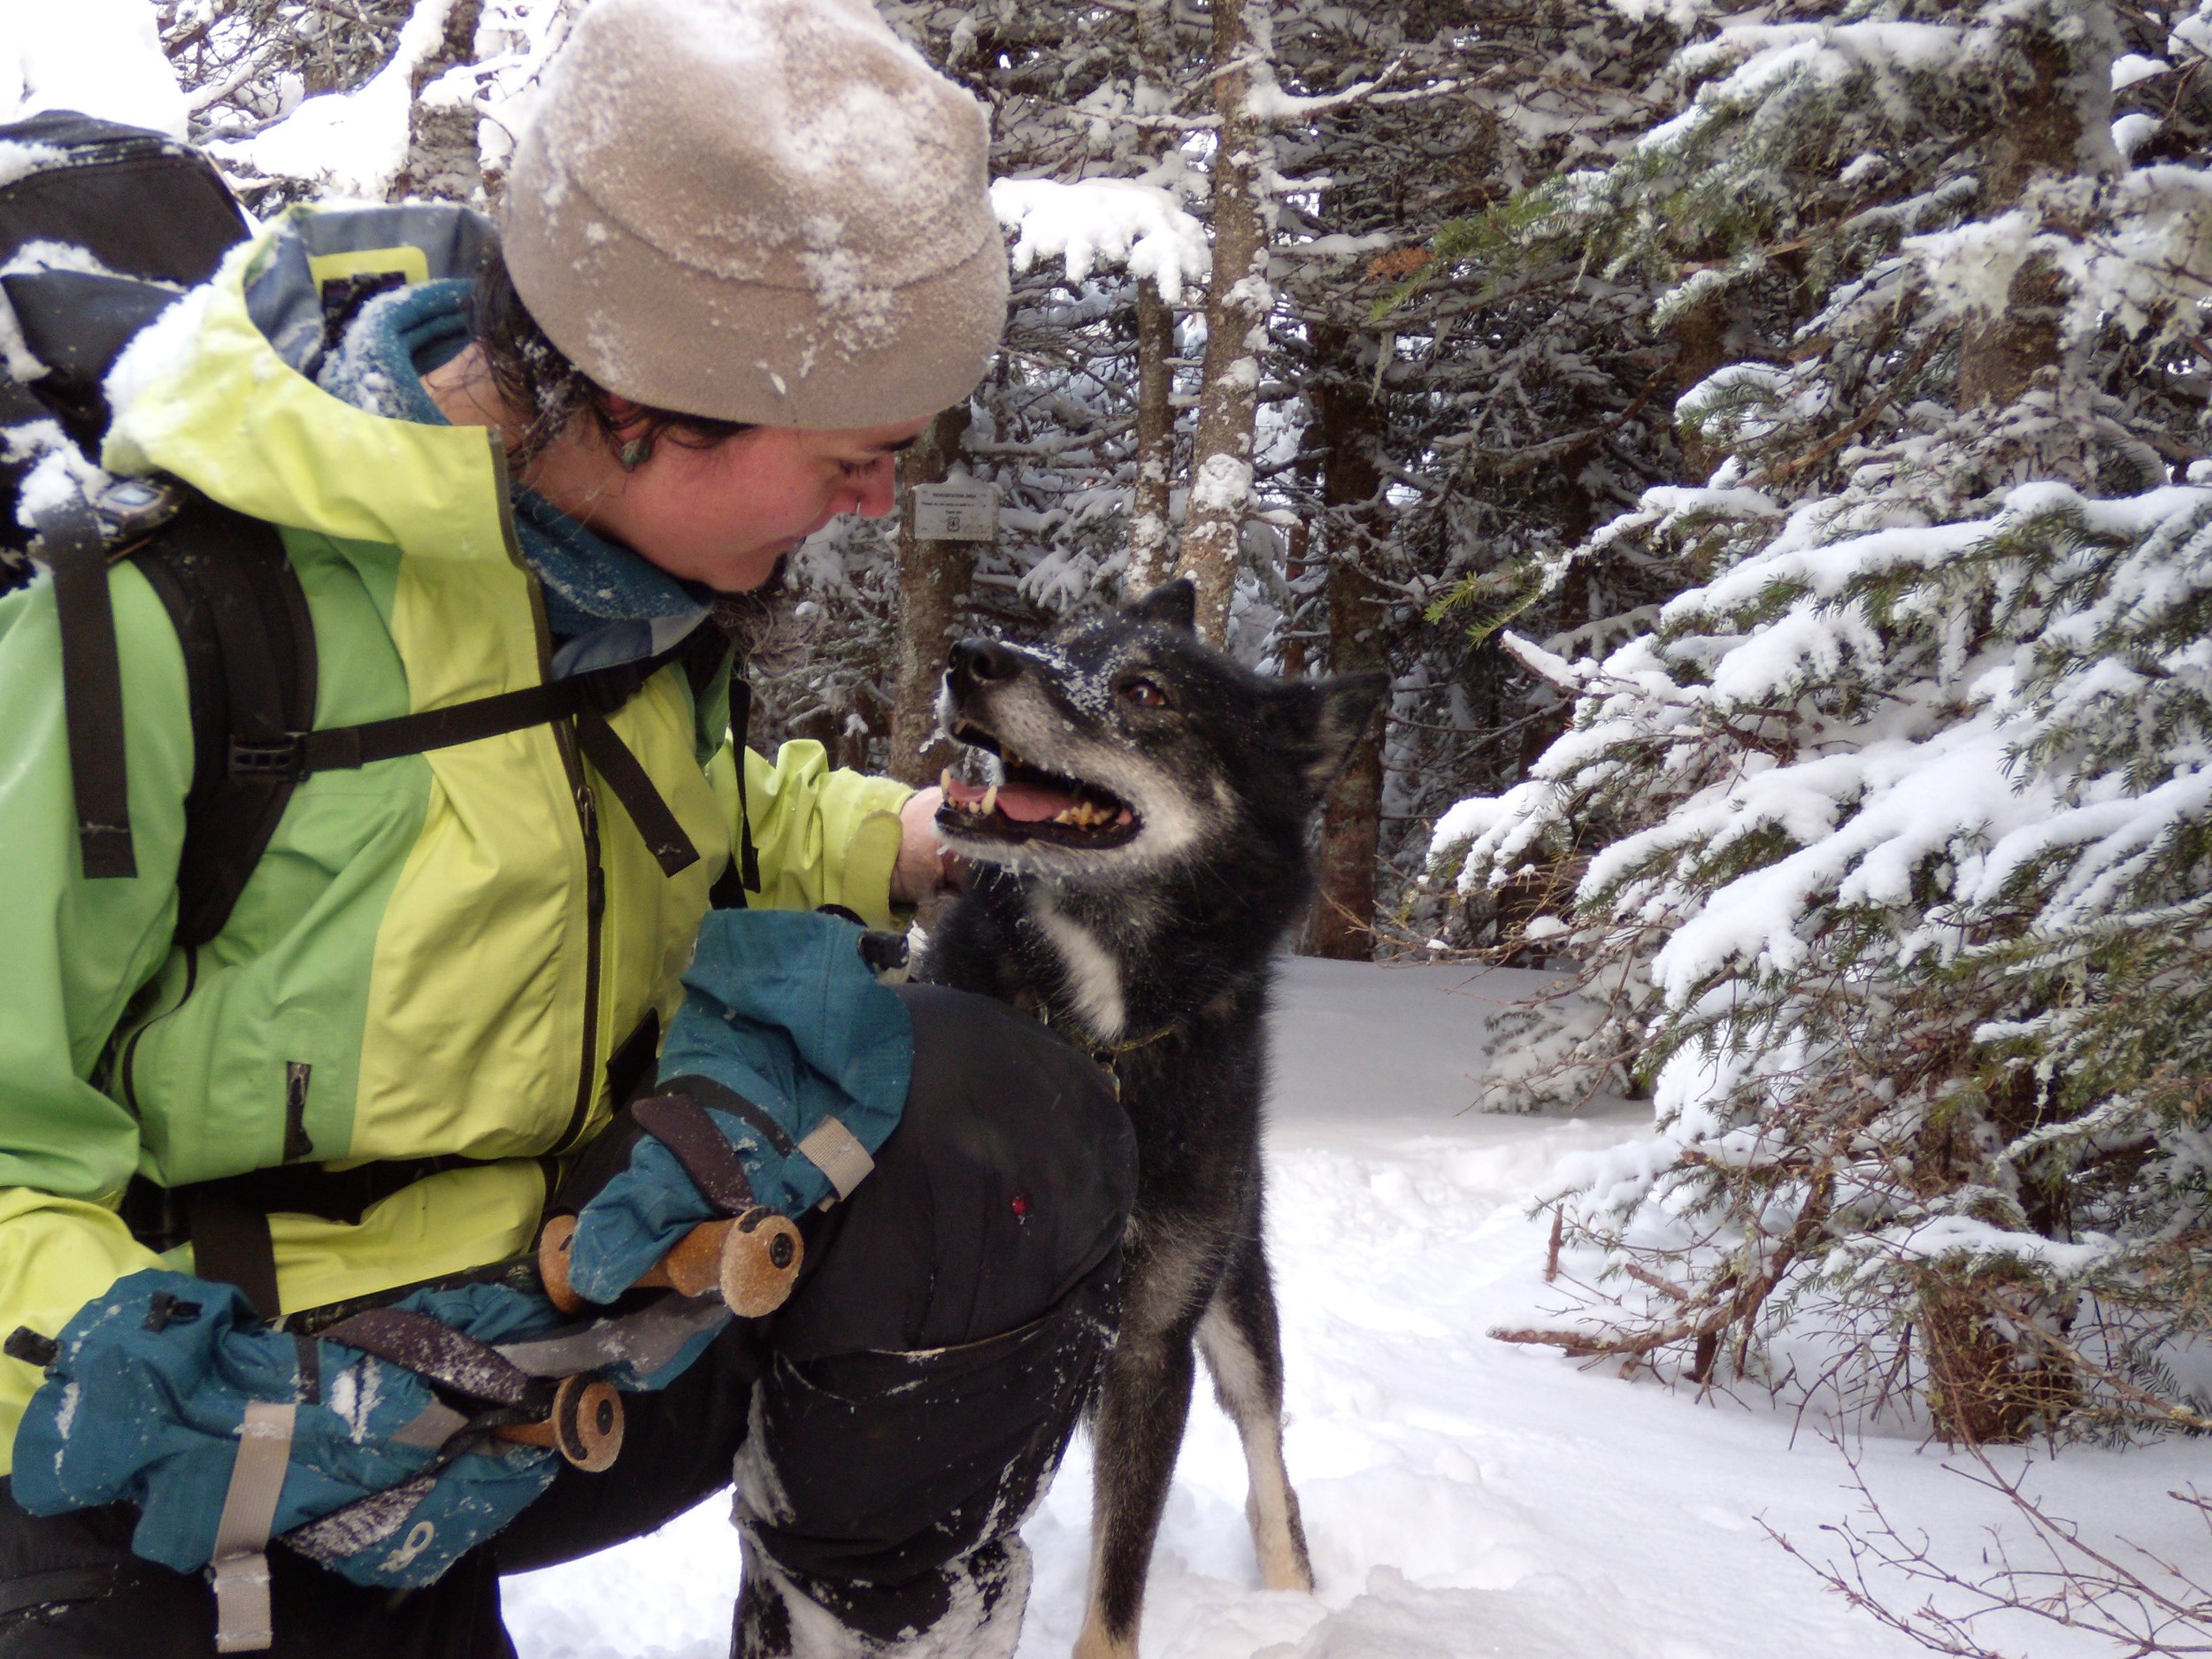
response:
{"label": "woman in beige hat and green-yellow jacket crouching beside the dog", "polygon": [[[865,0],[597,0],[495,232],[294,208],[117,365],[104,465],[281,529],[312,734],[186,940],[208,737],[148,562],[128,878],[80,863],[53,584],[0,599],[0,1659],[511,1655],[502,1573],[732,1480],[737,1655],[1013,1650],[1128,1128],[818,914],[936,889],[936,792],[732,743],[712,617],[982,376],[984,157]],[[500,697],[553,712],[416,719]],[[752,1203],[799,1219],[781,1310],[633,1290]],[[504,1438],[575,1329],[511,1265],[549,1212],[586,1314],[686,1310],[597,1354],[602,1471]]]}

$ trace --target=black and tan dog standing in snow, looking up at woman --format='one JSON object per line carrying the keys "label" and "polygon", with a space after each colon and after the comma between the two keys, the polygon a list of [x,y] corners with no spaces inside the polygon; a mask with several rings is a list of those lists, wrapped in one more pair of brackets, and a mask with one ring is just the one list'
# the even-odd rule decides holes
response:
{"label": "black and tan dog standing in snow, looking up at woman", "polygon": [[1314,1584],[1261,1245],[1267,982],[1312,896],[1307,827],[1383,692],[1383,675],[1248,672],[1199,641],[1188,582],[1044,646],[953,648],[945,728],[993,757],[993,783],[947,772],[938,825],[975,880],[918,975],[1091,1048],[1137,1130],[1077,1659],[1135,1659],[1192,1345],[1243,1436],[1261,1577]]}

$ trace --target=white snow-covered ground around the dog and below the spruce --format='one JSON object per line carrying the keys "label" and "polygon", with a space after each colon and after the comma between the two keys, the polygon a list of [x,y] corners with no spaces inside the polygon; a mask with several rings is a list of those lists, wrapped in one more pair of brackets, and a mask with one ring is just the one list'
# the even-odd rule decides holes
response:
{"label": "white snow-covered ground around the dog and below the spruce", "polygon": [[[1290,1365],[1290,1467],[1321,1590],[1267,1593],[1243,1464],[1201,1398],[1152,1562],[1144,1659],[1902,1659],[1922,1648],[1851,1613],[1761,1528],[1809,1553],[1858,1502],[1812,1427],[1699,1405],[1548,1349],[1484,1336],[1544,1305],[1546,1230],[1526,1194],[1571,1150],[1644,1128],[1464,1113],[1484,1011],[1531,973],[1292,962],[1276,1018],[1270,1248]],[[1201,1389],[1203,1394],[1203,1389]],[[1885,1509],[1960,1566],[1995,1500],[1940,1449],[1865,1440]],[[2017,1467],[2017,1458],[2011,1460]],[[2212,1489],[2212,1447],[2068,1451],[2048,1506],[2170,1559],[2205,1553],[2174,1486]],[[2008,1524],[2017,1535],[2017,1526]],[[1066,1655],[1082,1615],[1088,1453],[1029,1524],[1037,1588],[1020,1659]],[[714,1502],[593,1562],[509,1579],[524,1659],[721,1659],[737,1546]],[[1918,1604],[1902,1586],[1898,1604]],[[2108,1652],[1991,1626],[2035,1659]]]}

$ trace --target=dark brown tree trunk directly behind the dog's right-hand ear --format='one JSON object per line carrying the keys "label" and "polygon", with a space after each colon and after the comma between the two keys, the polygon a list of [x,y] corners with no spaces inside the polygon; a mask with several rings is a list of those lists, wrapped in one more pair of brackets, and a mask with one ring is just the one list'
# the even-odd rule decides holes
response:
{"label": "dark brown tree trunk directly behind the dog's right-hand ear", "polygon": [[[1327,509],[1329,668],[1338,675],[1389,668],[1387,595],[1360,555],[1378,533],[1383,504],[1383,405],[1360,374],[1360,341],[1314,327],[1314,427],[1321,436],[1321,500]],[[1374,956],[1376,863],[1383,849],[1383,721],[1352,750],[1321,814],[1321,894],[1307,925],[1310,956],[1365,962]]]}

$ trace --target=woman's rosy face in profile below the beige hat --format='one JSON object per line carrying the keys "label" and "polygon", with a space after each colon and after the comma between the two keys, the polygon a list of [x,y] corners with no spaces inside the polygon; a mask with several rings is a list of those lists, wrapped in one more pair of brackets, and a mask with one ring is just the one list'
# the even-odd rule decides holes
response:
{"label": "woman's rosy face in profile below the beige hat", "polygon": [[670,575],[741,593],[838,513],[889,513],[894,456],[927,425],[754,427],[710,449],[664,436],[641,465],[608,456],[546,495]]}

